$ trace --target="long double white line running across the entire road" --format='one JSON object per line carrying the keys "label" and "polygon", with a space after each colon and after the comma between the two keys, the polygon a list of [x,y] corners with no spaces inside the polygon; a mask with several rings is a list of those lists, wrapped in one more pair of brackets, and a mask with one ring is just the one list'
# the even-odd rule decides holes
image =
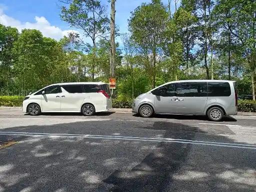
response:
{"label": "long double white line running across the entire road", "polygon": [[53,138],[92,138],[92,139],[112,139],[112,140],[131,140],[131,141],[150,141],[150,142],[168,142],[168,143],[185,143],[195,145],[208,145],[230,148],[243,148],[254,149],[256,145],[244,145],[235,143],[219,143],[219,142],[207,142],[196,140],[183,140],[172,138],[143,138],[143,137],[125,137],[125,136],[104,136],[104,135],[75,135],[75,134],[51,134],[51,133],[29,133],[29,132],[0,132],[0,135],[15,135],[15,136],[32,136],[32,137],[53,137]]}

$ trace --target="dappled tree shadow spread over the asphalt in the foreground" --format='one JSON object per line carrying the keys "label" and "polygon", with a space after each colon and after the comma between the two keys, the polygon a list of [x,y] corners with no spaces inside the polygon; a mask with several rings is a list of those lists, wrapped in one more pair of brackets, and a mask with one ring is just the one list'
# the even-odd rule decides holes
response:
{"label": "dappled tree shadow spread over the asphalt in the foreground", "polygon": [[[86,122],[54,126],[72,129],[79,124],[89,126]],[[178,123],[131,126],[131,132],[152,132],[154,137],[163,134],[183,141],[197,140],[201,134],[209,141],[236,143]],[[27,126],[2,131],[50,129],[52,126]],[[128,132],[119,129],[117,135]],[[15,139],[18,144],[0,150],[1,192],[254,192],[256,187],[256,151],[252,149],[109,138]]]}

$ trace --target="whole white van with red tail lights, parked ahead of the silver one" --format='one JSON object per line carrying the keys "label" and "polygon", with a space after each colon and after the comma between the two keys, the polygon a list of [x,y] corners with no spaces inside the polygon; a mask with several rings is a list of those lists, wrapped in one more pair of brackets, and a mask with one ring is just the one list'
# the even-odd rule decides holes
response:
{"label": "whole white van with red tail lights, parked ahead of the silver one", "polygon": [[52,84],[25,97],[22,111],[30,115],[48,112],[81,112],[91,116],[112,107],[109,85],[101,82]]}

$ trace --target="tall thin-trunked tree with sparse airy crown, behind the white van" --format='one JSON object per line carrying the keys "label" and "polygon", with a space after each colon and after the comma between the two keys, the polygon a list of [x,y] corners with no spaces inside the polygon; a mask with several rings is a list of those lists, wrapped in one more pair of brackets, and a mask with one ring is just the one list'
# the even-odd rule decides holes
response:
{"label": "tall thin-trunked tree with sparse airy crown, behind the white van", "polygon": [[[109,19],[106,15],[106,6],[101,5],[99,0],[64,0],[69,7],[62,6],[60,17],[69,23],[71,27],[81,29],[85,37],[92,40],[93,60],[92,60],[92,80],[95,75],[96,65],[96,39],[109,33]],[[83,42],[79,35],[80,43],[89,46]]]}

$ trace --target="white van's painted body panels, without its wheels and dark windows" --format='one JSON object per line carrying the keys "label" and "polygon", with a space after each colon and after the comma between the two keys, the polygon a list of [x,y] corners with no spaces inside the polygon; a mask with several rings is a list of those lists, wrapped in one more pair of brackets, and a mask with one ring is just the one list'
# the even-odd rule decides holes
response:
{"label": "white van's painted body panels, without its wheels and dark windows", "polygon": [[[45,93],[44,90],[57,87],[57,93]],[[83,92],[69,93],[65,88],[82,87]],[[99,90],[93,89],[94,92],[86,92],[85,87],[96,86]],[[104,87],[105,92],[101,89]],[[107,88],[106,88],[107,87]],[[43,94],[42,94],[43,93]],[[110,91],[107,83],[101,82],[77,82],[77,83],[58,83],[52,84],[39,91],[27,95],[23,101],[22,111],[28,112],[28,106],[31,103],[39,105],[42,113],[45,112],[81,112],[84,104],[91,104],[95,112],[108,111],[112,107]]]}

